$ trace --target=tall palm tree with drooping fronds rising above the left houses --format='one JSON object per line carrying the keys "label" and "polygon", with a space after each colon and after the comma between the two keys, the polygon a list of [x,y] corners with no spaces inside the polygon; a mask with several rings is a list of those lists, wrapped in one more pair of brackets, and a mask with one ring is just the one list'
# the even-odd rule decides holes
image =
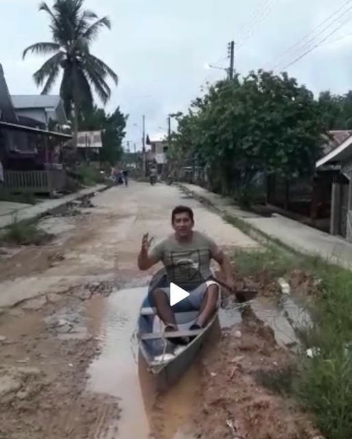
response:
{"label": "tall palm tree with drooping fronds rising above the left houses", "polygon": [[111,96],[106,79],[117,85],[118,77],[108,65],[90,53],[90,45],[103,27],[111,28],[108,16],[99,19],[83,9],[84,0],[54,0],[52,10],[47,3],[40,3],[39,10],[49,14],[53,41],[36,43],[25,49],[32,54],[53,54],[36,73],[34,81],[43,86],[42,95],[51,91],[60,72],[63,71],[60,95],[67,114],[73,110],[73,143],[77,147],[79,112],[93,104],[92,86],[103,104]]}

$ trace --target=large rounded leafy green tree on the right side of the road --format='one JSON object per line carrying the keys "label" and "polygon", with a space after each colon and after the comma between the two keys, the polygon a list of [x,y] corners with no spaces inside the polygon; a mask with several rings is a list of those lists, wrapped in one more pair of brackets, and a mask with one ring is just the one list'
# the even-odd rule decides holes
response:
{"label": "large rounded leafy green tree on the right side of the road", "polygon": [[312,92],[286,73],[251,72],[221,81],[192,102],[190,147],[208,167],[212,189],[247,190],[258,171],[309,174],[325,125]]}

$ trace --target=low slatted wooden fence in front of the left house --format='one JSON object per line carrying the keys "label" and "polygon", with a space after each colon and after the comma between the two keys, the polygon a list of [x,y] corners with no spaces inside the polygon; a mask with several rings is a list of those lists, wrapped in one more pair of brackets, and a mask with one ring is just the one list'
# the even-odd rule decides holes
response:
{"label": "low slatted wooden fence in front of the left house", "polygon": [[52,193],[65,185],[65,172],[55,171],[5,171],[5,189],[11,192]]}

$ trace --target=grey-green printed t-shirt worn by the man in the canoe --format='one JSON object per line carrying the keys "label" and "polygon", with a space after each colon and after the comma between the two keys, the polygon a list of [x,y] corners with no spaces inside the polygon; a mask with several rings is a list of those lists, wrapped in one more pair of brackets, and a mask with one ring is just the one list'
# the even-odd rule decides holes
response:
{"label": "grey-green printed t-shirt worn by the man in the canoe", "polygon": [[[164,263],[169,280],[179,284],[186,284],[187,273],[185,268],[193,268],[200,272],[203,280],[207,280],[210,271],[210,260],[218,255],[220,248],[213,239],[207,235],[194,231],[192,239],[188,242],[177,241],[171,235],[157,244],[150,253],[158,261]],[[177,270],[181,266],[183,270]],[[176,268],[176,271],[175,271]]]}

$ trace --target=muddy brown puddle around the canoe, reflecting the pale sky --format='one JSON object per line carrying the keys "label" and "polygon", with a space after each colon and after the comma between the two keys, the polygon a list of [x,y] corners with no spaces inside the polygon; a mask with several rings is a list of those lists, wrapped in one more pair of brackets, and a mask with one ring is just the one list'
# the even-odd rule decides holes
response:
{"label": "muddy brown puddle around the canoe, reflecting the pale sky", "polygon": [[[199,397],[199,362],[194,361],[168,392],[155,391],[134,337],[146,291],[145,286],[116,290],[109,298],[90,303],[88,332],[99,337],[101,355],[88,370],[88,390],[119,401],[121,418],[111,426],[118,433],[110,438],[192,439],[188,425],[194,399]],[[230,327],[240,322],[240,313],[229,307],[221,310],[220,318],[221,327]]]}

